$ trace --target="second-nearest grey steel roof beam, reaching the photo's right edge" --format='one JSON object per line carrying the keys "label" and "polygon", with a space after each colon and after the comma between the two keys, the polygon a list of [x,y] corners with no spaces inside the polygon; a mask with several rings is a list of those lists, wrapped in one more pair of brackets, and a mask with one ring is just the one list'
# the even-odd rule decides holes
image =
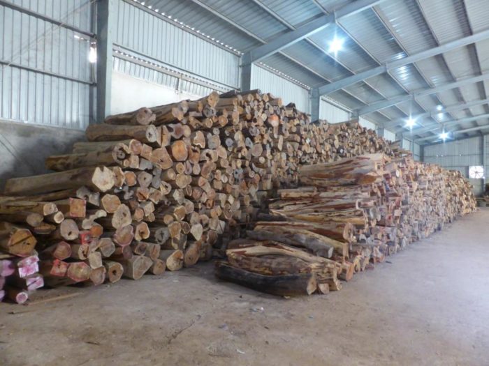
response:
{"label": "second-nearest grey steel roof beam, reaching the photo's right edge", "polygon": [[346,88],[346,86],[356,84],[357,82],[361,82],[362,80],[368,79],[369,77],[381,75],[382,73],[386,73],[395,68],[400,68],[401,66],[408,65],[409,63],[415,63],[424,59],[428,59],[432,56],[436,56],[437,54],[444,54],[445,52],[451,51],[452,49],[471,45],[472,43],[479,42],[480,40],[485,40],[486,38],[489,38],[489,29],[487,31],[476,33],[472,36],[453,40],[452,42],[445,43],[444,45],[441,45],[439,47],[427,49],[426,51],[419,52],[418,54],[404,57],[404,59],[388,62],[385,65],[378,66],[377,68],[372,68],[371,70],[366,70],[362,73],[345,77],[344,79],[338,80],[337,82],[319,86],[319,93],[321,93],[321,96],[333,93],[333,91],[344,89]]}

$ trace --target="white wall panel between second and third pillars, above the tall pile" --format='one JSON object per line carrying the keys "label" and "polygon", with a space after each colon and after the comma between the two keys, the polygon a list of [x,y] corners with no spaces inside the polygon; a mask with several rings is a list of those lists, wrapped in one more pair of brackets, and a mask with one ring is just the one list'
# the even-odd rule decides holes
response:
{"label": "white wall panel between second and third pillars, above the tall pile", "polygon": [[309,91],[260,66],[251,67],[251,89],[261,89],[263,93],[272,93],[281,97],[284,105],[295,103],[300,111],[309,113]]}

